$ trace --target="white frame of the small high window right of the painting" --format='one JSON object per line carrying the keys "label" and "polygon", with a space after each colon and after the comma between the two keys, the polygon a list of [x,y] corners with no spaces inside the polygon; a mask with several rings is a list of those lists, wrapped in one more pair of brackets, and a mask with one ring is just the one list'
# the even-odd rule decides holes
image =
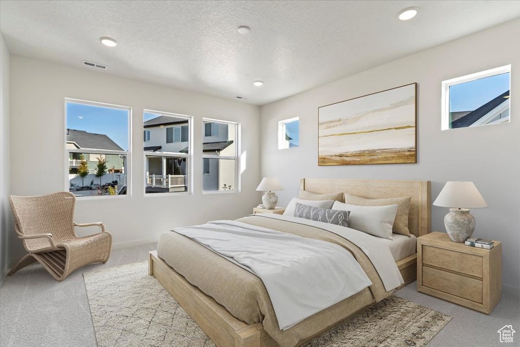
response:
{"label": "white frame of the small high window right of the painting", "polygon": [[[493,68],[485,71],[479,71],[475,73],[471,73],[468,75],[452,78],[446,81],[441,82],[441,105],[440,105],[440,113],[441,113],[441,119],[440,119],[440,130],[457,130],[457,129],[465,129],[467,127],[461,127],[461,128],[450,128],[450,87],[452,85],[457,85],[465,82],[471,82],[475,80],[484,79],[487,77],[499,75],[502,73],[509,73],[509,90],[511,91],[511,65],[504,65],[498,68]],[[511,111],[510,111],[511,114]],[[510,120],[511,122],[511,115]],[[495,123],[495,124],[501,124],[501,123]],[[495,125],[493,123],[486,124],[486,125]]]}

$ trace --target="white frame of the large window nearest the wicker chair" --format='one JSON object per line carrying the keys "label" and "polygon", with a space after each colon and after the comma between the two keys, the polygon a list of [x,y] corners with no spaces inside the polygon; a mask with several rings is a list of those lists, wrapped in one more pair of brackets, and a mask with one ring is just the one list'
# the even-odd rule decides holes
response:
{"label": "white frame of the large window nearest the wicker chair", "polygon": [[[80,149],[70,149],[67,148],[67,103],[71,102],[72,104],[81,104],[95,107],[103,107],[103,108],[113,108],[119,110],[128,111],[128,150],[127,151],[118,151],[118,150],[101,150],[101,149],[89,149],[89,148],[80,148]],[[104,155],[125,155],[126,156],[126,166],[125,166],[125,175],[126,175],[126,194],[125,195],[101,195],[101,196],[76,196],[76,200],[103,200],[103,199],[127,199],[132,197],[132,107],[130,106],[122,106],[116,104],[107,104],[106,102],[98,102],[98,101],[89,101],[82,99],[74,99],[74,98],[64,98],[63,102],[63,119],[64,119],[64,129],[63,129],[63,148],[64,148],[64,159],[65,165],[64,168],[64,178],[65,178],[65,189],[64,191],[70,191],[70,182],[69,182],[69,155],[70,153],[82,153],[82,154],[104,154]]]}

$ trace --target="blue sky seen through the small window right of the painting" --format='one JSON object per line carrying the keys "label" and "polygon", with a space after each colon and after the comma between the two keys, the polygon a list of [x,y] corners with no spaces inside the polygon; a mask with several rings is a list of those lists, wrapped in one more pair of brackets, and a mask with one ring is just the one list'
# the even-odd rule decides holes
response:
{"label": "blue sky seen through the small window right of the painting", "polygon": [[509,72],[450,86],[450,112],[474,111],[509,90]]}

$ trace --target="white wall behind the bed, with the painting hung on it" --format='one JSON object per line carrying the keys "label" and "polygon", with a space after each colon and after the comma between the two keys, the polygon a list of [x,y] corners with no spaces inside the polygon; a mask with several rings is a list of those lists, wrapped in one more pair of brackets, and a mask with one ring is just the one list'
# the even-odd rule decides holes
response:
{"label": "white wall behind the bed, with the painting hung on it", "polygon": [[[278,177],[279,205],[297,196],[299,179],[374,178],[432,181],[432,201],[446,181],[473,181],[489,208],[472,210],[475,236],[503,242],[504,292],[518,295],[520,242],[520,20],[425,50],[261,108],[262,176]],[[440,83],[512,65],[511,123],[440,130]],[[317,165],[318,107],[418,82],[418,163]],[[278,150],[278,121],[300,117],[300,147]],[[288,170],[289,169],[289,170]],[[445,231],[445,208],[432,229]]]}

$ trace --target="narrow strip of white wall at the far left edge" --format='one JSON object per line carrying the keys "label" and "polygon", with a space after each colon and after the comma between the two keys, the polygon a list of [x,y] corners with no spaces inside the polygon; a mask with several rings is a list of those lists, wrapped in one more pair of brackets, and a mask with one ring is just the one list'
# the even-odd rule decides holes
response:
{"label": "narrow strip of white wall at the far left edge", "polygon": [[9,185],[9,51],[0,34],[0,284],[10,265],[8,245],[14,233]]}

